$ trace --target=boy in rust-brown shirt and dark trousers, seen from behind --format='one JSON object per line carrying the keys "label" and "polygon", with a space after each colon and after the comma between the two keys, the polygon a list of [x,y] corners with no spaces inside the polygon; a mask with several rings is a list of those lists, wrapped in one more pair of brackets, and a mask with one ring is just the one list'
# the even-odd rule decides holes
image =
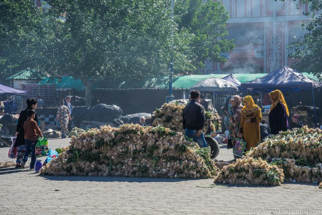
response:
{"label": "boy in rust-brown shirt and dark trousers, seen from behind", "polygon": [[24,123],[25,130],[25,145],[26,153],[21,162],[21,168],[25,168],[25,164],[28,160],[28,156],[31,153],[30,169],[35,169],[36,162],[36,145],[38,142],[38,136],[42,136],[42,133],[38,127],[37,122],[34,120],[36,112],[33,109],[27,111],[28,119]]}

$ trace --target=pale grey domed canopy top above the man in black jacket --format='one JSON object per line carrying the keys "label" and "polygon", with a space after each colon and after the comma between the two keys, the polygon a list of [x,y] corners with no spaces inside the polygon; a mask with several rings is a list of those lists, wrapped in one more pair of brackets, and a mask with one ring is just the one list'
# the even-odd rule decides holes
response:
{"label": "pale grey domed canopy top above the man in black jacket", "polygon": [[223,79],[210,78],[195,84],[190,91],[215,91],[215,92],[235,92],[237,87]]}

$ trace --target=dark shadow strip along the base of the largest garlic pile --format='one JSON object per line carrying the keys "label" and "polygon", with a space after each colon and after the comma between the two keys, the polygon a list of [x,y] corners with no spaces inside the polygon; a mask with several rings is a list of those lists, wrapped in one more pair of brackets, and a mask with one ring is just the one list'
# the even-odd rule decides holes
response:
{"label": "dark shadow strip along the base of the largest garlic pile", "polygon": [[98,182],[180,182],[202,179],[173,179],[173,178],[129,178],[129,177],[104,177],[104,176],[48,176],[39,175],[47,180],[53,181],[98,181]]}

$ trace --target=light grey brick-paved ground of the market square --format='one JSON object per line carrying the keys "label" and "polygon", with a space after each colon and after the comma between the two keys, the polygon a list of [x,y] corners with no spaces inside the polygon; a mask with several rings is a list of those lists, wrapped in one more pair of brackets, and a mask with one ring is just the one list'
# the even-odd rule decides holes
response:
{"label": "light grey brick-paved ground of the market square", "polygon": [[[52,149],[68,146],[68,138],[50,139],[48,145]],[[232,152],[224,146],[217,159],[231,160]],[[8,159],[8,150],[0,148],[0,162],[13,161]],[[43,177],[28,169],[3,168],[0,214],[322,214],[322,190],[317,185],[224,186],[212,182]]]}

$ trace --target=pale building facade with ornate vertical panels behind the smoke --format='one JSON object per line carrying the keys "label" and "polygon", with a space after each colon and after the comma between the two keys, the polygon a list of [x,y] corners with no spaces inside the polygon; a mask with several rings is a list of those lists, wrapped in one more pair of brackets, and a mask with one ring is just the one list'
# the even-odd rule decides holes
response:
{"label": "pale building facade with ornate vertical panels behind the smoke", "polygon": [[202,74],[270,73],[291,66],[294,59],[288,57],[287,46],[304,35],[302,23],[308,22],[303,15],[308,5],[299,1],[220,0],[230,17],[228,39],[236,47],[224,53],[226,63],[205,61]]}

